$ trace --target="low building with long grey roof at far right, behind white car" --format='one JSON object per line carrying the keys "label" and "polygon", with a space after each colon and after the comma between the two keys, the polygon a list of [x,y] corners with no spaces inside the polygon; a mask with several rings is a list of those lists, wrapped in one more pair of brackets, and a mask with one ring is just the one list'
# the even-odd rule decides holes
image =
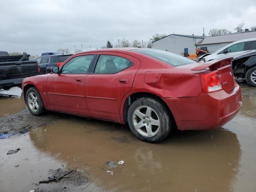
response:
{"label": "low building with long grey roof at far right, behind white car", "polygon": [[232,42],[256,38],[256,31],[242,32],[242,33],[231,33],[228,35],[210,36],[205,37],[200,42],[196,43],[196,48],[207,47],[209,52],[215,52],[216,50],[226,46]]}

